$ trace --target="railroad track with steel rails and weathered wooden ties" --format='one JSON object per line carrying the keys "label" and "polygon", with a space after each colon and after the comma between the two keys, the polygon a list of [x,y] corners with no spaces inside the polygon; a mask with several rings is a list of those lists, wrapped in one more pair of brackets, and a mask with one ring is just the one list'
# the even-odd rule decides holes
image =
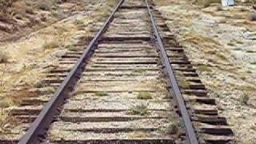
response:
{"label": "railroad track with steel rails and weathered wooden ties", "polygon": [[0,142],[233,142],[226,118],[151,5],[120,1],[89,46],[83,50],[82,42],[50,71],[42,96],[12,111],[24,136]]}

